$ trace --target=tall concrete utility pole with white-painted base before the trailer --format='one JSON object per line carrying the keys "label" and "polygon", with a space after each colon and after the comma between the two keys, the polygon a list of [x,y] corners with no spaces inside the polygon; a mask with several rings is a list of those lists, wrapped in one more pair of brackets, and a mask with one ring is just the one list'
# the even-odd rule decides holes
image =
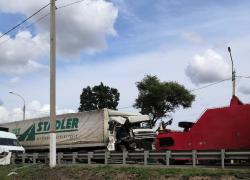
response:
{"label": "tall concrete utility pole with white-painted base before the trailer", "polygon": [[50,0],[50,162],[56,166],[56,25],[55,0]]}

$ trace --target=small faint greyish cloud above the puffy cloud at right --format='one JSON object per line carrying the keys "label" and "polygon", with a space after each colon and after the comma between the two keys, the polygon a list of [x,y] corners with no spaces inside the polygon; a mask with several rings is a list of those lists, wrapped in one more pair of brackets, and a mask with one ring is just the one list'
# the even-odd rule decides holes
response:
{"label": "small faint greyish cloud above the puffy cloud at right", "polygon": [[203,44],[205,40],[195,31],[182,31],[180,38],[194,44]]}

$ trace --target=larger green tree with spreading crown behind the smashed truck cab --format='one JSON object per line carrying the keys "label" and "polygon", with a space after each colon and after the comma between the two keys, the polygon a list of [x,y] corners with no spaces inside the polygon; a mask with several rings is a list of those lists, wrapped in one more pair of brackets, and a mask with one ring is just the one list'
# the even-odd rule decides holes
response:
{"label": "larger green tree with spreading crown behind the smashed truck cab", "polygon": [[195,95],[183,85],[173,81],[160,82],[157,76],[146,75],[136,82],[136,86],[139,94],[133,107],[148,114],[153,126],[160,118],[170,117],[180,106],[184,109],[191,107],[195,100]]}

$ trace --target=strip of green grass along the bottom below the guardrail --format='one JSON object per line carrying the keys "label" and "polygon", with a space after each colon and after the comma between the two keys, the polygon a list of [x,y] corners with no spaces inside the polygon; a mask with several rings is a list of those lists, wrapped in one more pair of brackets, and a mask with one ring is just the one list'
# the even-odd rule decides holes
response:
{"label": "strip of green grass along the bottom below the guardrail", "polygon": [[19,179],[58,179],[65,176],[71,179],[84,179],[86,175],[93,179],[112,180],[118,175],[130,176],[131,179],[163,179],[175,177],[188,180],[191,177],[213,177],[233,176],[235,179],[250,179],[250,170],[222,170],[222,169],[178,169],[178,168],[149,168],[149,167],[116,167],[116,166],[56,166],[51,169],[48,166],[32,166],[17,170],[17,175],[7,177],[14,168],[23,167],[22,165],[0,166],[1,180]]}

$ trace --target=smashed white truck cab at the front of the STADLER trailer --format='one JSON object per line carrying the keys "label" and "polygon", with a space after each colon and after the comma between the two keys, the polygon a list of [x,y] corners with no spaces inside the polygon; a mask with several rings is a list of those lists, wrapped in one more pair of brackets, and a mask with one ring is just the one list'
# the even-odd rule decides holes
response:
{"label": "smashed white truck cab at the front of the STADLER trailer", "polygon": [[155,130],[148,115],[109,110],[109,151],[155,150]]}

